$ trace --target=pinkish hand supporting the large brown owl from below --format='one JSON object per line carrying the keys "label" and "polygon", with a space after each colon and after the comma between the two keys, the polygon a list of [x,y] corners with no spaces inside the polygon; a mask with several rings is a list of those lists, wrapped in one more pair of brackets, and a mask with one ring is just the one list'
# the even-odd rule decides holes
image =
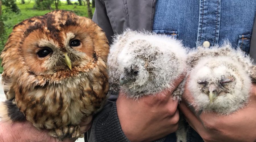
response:
{"label": "pinkish hand supporting the large brown owl from below", "polygon": [[[86,132],[92,125],[92,116],[82,120],[79,124],[82,133]],[[49,141],[59,142],[60,140],[48,135],[49,130],[37,130],[29,122],[3,122],[0,121],[0,141],[1,142],[23,142],[23,141]],[[73,142],[67,138],[63,142]]]}

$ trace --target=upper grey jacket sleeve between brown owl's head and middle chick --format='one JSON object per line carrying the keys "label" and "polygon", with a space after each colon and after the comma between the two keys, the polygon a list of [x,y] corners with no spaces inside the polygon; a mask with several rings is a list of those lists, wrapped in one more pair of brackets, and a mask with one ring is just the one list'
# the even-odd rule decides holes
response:
{"label": "upper grey jacket sleeve between brown owl's head and middle chick", "polygon": [[112,36],[114,35],[109,17],[107,15],[104,1],[95,0],[95,11],[92,20],[97,23],[100,28],[106,33],[109,43],[112,43]]}

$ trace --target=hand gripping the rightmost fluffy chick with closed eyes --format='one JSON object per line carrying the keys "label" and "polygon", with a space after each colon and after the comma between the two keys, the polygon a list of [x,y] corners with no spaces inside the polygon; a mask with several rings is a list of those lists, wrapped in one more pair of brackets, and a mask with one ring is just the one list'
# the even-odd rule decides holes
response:
{"label": "hand gripping the rightmost fluffy chick with closed eyes", "polygon": [[204,141],[256,141],[256,84],[251,86],[250,99],[247,106],[229,115],[199,112],[190,105],[193,97],[185,85],[179,109]]}

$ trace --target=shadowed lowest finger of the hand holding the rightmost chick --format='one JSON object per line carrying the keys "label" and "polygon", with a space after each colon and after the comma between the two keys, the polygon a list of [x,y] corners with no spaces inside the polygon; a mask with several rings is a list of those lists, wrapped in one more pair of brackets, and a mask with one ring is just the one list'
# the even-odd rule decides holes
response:
{"label": "shadowed lowest finger of the hand holding the rightmost chick", "polygon": [[193,114],[193,112],[186,106],[185,103],[180,102],[178,107],[186,117],[186,120],[191,124],[191,126],[194,127],[193,129],[196,131],[205,129],[201,121],[197,118],[197,116],[195,116],[195,114]]}

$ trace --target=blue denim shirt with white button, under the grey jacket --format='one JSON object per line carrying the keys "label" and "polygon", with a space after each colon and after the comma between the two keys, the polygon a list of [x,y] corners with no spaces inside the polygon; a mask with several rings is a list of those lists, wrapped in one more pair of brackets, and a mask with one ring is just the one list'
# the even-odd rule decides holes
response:
{"label": "blue denim shirt with white button, under the grey jacket", "polygon": [[157,0],[152,30],[194,48],[225,40],[249,53],[255,0]]}

